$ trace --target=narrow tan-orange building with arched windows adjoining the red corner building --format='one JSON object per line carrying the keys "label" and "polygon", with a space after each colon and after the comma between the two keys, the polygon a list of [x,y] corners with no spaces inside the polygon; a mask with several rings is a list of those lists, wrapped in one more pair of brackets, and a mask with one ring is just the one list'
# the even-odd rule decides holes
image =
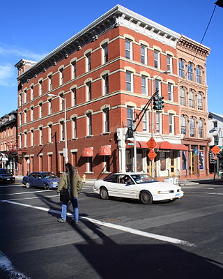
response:
{"label": "narrow tan-orange building with arched windows adjoining the red corner building", "polygon": [[188,151],[182,151],[185,177],[207,176],[208,105],[206,59],[210,48],[182,36],[177,44],[180,133]]}

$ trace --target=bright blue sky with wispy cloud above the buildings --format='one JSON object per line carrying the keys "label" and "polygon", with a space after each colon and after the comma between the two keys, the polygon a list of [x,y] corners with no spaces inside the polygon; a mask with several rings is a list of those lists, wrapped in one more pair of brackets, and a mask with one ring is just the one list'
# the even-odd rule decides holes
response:
{"label": "bright blue sky with wispy cloud above the buildings", "polygon": [[[77,1],[4,0],[0,17],[0,116],[17,109],[20,59],[39,61],[117,4],[201,42],[217,0]],[[216,7],[203,40],[207,59],[208,110],[223,114],[223,8]]]}

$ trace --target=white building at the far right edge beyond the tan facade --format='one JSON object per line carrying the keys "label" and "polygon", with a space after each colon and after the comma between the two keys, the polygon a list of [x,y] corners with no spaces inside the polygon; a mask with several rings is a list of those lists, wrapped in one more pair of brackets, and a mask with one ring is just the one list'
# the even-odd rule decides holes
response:
{"label": "white building at the far right edge beyond the tan facade", "polygon": [[210,149],[213,146],[220,148],[220,153],[214,156],[213,152],[209,152],[209,171],[216,172],[221,175],[223,172],[223,114],[209,112],[208,116],[208,136],[210,137]]}

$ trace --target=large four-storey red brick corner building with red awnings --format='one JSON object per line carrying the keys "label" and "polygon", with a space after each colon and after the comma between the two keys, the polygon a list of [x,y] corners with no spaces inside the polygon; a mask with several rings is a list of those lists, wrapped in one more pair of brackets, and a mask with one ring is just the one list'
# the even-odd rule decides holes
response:
{"label": "large four-storey red brick corner building with red awnings", "polygon": [[[68,158],[81,175],[96,179],[132,169],[126,130],[159,89],[164,109],[148,107],[137,128],[137,169],[180,176],[180,156],[188,149],[180,134],[180,37],[118,5],[41,61],[17,63],[19,173],[63,172],[66,126]],[[151,136],[157,142],[154,165],[146,145]]]}

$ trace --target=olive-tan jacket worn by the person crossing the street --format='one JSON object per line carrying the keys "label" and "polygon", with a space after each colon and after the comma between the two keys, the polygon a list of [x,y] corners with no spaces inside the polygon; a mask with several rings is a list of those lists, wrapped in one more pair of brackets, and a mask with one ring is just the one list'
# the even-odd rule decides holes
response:
{"label": "olive-tan jacket worn by the person crossing the street", "polygon": [[[79,174],[75,174],[75,176],[73,176],[72,181],[71,181],[71,193],[72,193],[72,197],[78,197],[78,191],[82,189],[82,179],[79,176]],[[57,193],[60,193],[60,191],[65,188],[68,188],[68,175],[65,173],[62,174],[60,182],[59,182],[59,186],[57,189]]]}

